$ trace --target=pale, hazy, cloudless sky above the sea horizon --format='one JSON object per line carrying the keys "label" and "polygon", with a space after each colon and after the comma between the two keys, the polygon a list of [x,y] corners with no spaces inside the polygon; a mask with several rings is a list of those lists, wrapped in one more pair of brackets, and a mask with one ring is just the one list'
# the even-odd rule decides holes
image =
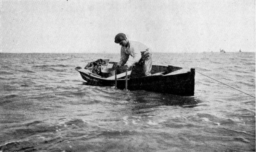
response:
{"label": "pale, hazy, cloudless sky above the sea horizon", "polygon": [[255,52],[255,0],[0,0],[0,52]]}

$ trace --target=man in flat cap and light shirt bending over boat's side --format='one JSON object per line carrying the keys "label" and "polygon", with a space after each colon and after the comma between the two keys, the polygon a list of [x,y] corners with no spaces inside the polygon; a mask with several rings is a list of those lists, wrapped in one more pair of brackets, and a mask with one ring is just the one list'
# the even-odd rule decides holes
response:
{"label": "man in flat cap and light shirt bending over boat's side", "polygon": [[[120,66],[134,66],[131,71],[131,77],[143,77],[151,75],[152,58],[149,49],[144,44],[128,40],[126,35],[119,33],[115,37],[115,43],[121,46],[121,58],[117,67]],[[131,63],[127,63],[129,56],[133,57]]]}

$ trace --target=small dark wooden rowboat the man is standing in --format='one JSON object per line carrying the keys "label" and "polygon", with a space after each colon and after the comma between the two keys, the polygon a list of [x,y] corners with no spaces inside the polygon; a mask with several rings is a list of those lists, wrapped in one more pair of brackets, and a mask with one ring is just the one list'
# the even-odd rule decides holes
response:
{"label": "small dark wooden rowboat the man is standing in", "polygon": [[[125,89],[126,69],[117,70],[115,81],[115,69],[113,64],[108,62],[101,66],[99,74],[93,73],[92,69],[76,67],[81,77],[89,85],[94,86],[115,86],[118,89]],[[172,95],[193,96],[195,90],[195,69],[185,69],[177,66],[152,65],[151,76],[130,77],[131,68],[127,72],[128,90],[146,90],[151,92],[162,92]]]}

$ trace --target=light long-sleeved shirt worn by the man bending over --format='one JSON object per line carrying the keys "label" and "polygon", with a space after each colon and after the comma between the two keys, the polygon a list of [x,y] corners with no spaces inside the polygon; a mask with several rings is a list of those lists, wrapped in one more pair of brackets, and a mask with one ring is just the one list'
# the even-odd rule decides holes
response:
{"label": "light long-sleeved shirt worn by the man bending over", "polygon": [[141,52],[148,51],[148,47],[145,46],[143,43],[129,40],[128,47],[121,47],[121,58],[120,58],[120,64],[123,66],[129,59],[129,56],[131,55],[133,57],[133,60],[130,61],[132,65],[135,63],[138,63],[141,58]]}

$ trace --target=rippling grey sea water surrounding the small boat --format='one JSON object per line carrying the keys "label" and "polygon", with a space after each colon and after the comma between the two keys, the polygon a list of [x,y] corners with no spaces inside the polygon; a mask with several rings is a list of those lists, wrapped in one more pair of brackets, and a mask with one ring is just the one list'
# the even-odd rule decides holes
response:
{"label": "rippling grey sea water surrounding the small boat", "polygon": [[[0,152],[255,151],[255,98],[195,75],[195,96],[88,86],[119,54],[0,54]],[[255,96],[255,53],[154,53]]]}

